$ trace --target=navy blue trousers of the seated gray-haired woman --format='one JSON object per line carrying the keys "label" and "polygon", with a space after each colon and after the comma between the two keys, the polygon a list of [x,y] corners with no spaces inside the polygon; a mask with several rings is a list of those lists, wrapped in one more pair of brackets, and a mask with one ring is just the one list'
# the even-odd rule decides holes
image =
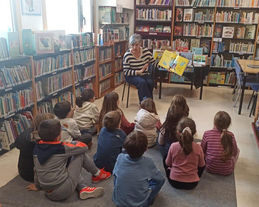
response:
{"label": "navy blue trousers of the seated gray-haired woman", "polygon": [[130,85],[136,86],[138,89],[139,102],[146,96],[153,99],[153,90],[155,83],[149,74],[140,75],[126,75],[125,80]]}

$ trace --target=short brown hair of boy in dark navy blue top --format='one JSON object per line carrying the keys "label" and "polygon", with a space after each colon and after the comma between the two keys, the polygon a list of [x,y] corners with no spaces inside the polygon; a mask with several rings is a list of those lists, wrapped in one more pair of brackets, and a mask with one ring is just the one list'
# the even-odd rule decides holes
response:
{"label": "short brown hair of boy in dark navy blue top", "polygon": [[103,117],[102,124],[103,126],[109,130],[115,130],[119,126],[121,121],[121,114],[119,111],[109,111]]}

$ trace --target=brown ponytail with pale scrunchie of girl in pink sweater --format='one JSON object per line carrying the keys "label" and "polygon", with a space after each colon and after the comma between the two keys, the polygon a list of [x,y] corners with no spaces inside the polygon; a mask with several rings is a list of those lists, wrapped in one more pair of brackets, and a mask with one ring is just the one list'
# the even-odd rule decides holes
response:
{"label": "brown ponytail with pale scrunchie of girl in pink sweater", "polygon": [[178,137],[182,153],[184,155],[189,155],[193,151],[193,135],[196,133],[195,122],[190,118],[184,117],[180,119],[176,129],[180,132]]}

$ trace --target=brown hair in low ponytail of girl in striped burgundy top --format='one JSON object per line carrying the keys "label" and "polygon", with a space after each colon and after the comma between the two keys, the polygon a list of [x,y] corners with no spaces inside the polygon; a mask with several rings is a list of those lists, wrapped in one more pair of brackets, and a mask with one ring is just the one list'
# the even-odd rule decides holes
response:
{"label": "brown hair in low ponytail of girl in striped burgundy top", "polygon": [[225,111],[219,111],[216,113],[214,117],[214,126],[220,131],[222,134],[220,136],[220,143],[224,149],[220,159],[226,161],[227,159],[233,156],[233,139],[230,134],[228,134],[227,129],[231,124],[231,117]]}

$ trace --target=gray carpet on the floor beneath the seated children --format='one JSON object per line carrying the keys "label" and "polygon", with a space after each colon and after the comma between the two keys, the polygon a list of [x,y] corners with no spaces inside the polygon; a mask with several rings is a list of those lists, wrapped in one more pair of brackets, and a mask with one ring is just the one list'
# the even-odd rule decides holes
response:
{"label": "gray carpet on the floor beneath the seated children", "polygon": [[[96,151],[97,138],[93,138],[94,145],[89,150],[88,155],[92,157]],[[198,141],[198,140],[196,140]],[[200,141],[200,140],[199,140]],[[162,157],[157,147],[148,149],[145,153],[155,160],[157,168],[164,173]],[[164,173],[165,174],[165,173]],[[113,191],[113,178],[99,183],[91,183],[91,176],[85,170],[82,170],[82,176],[89,186],[100,186],[104,188],[104,194],[98,198],[90,198],[80,200],[77,191],[71,197],[60,202],[49,200],[43,191],[26,191],[26,185],[29,183],[24,181],[20,176],[16,176],[12,181],[0,188],[0,203],[3,207],[37,207],[37,206],[60,206],[60,207],[81,207],[81,206],[115,206],[111,200]],[[163,207],[236,207],[236,189],[235,176],[218,176],[209,174],[204,171],[198,186],[190,191],[174,189],[167,181],[156,197],[155,203],[152,205]]]}

